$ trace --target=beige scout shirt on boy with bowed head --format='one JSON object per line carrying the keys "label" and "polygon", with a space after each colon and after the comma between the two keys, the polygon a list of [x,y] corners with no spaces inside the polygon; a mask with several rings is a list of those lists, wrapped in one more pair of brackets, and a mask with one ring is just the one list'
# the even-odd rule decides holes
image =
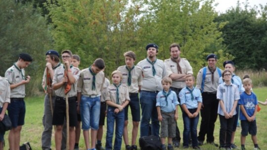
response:
{"label": "beige scout shirt on boy with bowed head", "polygon": [[77,92],[81,92],[82,95],[101,95],[103,84],[105,82],[105,74],[100,71],[95,75],[95,90],[92,90],[92,78],[89,68],[83,69],[80,74],[80,78],[77,85]]}

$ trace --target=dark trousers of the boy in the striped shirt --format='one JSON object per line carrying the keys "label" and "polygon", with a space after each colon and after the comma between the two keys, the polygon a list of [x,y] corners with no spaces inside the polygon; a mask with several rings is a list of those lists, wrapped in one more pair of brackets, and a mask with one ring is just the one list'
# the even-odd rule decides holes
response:
{"label": "dark trousers of the boy in the striped shirt", "polygon": [[219,114],[221,128],[220,128],[220,146],[223,148],[231,147],[232,128],[235,120],[235,116],[226,119],[223,115]]}

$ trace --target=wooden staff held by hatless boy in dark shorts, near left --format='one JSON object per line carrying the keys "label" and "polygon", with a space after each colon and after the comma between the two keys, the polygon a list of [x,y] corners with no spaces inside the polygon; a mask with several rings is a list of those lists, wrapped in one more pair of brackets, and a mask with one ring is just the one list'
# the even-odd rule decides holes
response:
{"label": "wooden staff held by hatless boy in dark shorts, near left", "polygon": [[[68,77],[68,68],[67,68],[67,64],[65,63],[64,64],[65,66],[65,72],[64,72],[64,77]],[[64,83],[64,87],[65,87],[65,90],[64,90],[64,93],[65,93],[65,99],[66,99],[66,122],[67,122],[67,142],[66,142],[66,150],[69,150],[69,139],[70,139],[70,131],[69,131],[69,128],[70,128],[70,119],[69,119],[69,101],[68,101],[68,93],[69,91],[71,90],[71,83],[70,83],[70,80],[68,78],[68,82],[65,82]]]}

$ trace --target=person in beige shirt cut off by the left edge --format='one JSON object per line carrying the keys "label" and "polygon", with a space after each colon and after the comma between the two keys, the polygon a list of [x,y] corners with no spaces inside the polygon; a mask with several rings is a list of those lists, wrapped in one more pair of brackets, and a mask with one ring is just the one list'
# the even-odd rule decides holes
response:
{"label": "person in beige shirt cut off by the left edge", "polygon": [[[0,76],[0,121],[2,121],[8,104],[10,103],[10,87],[8,80]],[[0,132],[0,150],[4,146],[4,133]]]}

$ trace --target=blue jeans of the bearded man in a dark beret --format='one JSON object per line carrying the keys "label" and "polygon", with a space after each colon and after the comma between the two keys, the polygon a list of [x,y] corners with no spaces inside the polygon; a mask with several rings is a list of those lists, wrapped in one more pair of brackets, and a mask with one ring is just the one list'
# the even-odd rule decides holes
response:
{"label": "blue jeans of the bearded man in a dark beret", "polygon": [[159,136],[160,124],[156,108],[156,92],[141,91],[140,103],[142,109],[142,118],[140,123],[140,136],[148,136],[149,123],[151,120],[151,134]]}

